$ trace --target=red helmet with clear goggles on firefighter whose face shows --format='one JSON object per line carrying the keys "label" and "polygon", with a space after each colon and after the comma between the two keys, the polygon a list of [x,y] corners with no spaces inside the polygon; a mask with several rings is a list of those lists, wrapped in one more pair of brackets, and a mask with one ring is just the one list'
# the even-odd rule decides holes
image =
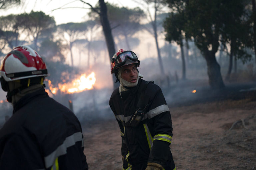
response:
{"label": "red helmet with clear goggles on firefighter whose face shows", "polygon": [[132,51],[119,49],[111,59],[111,74],[115,73],[118,68],[130,64],[136,64],[137,67],[140,66],[140,61],[138,60],[137,55]]}

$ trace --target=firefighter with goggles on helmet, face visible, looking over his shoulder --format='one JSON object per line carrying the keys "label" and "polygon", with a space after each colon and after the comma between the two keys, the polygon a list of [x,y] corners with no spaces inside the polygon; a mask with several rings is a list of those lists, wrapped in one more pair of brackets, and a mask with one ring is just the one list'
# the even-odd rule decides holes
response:
{"label": "firefighter with goggles on helmet, face visible, looking over his shoulder", "polygon": [[172,120],[159,86],[141,79],[140,61],[120,49],[111,59],[111,73],[120,82],[109,105],[121,130],[124,170],[175,170],[170,144]]}

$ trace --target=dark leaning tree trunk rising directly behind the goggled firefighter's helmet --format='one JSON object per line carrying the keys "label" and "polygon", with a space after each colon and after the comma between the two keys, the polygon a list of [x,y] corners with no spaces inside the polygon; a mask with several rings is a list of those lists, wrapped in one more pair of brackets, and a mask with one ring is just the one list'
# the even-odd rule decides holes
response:
{"label": "dark leaning tree trunk rising directly behind the goggled firefighter's helmet", "polygon": [[[108,48],[108,54],[109,54],[109,60],[113,57],[115,54],[115,43],[112,36],[112,30],[108,21],[108,15],[107,15],[107,6],[104,0],[99,0],[100,4],[100,22],[103,28],[107,48]],[[112,74],[113,80],[116,80],[116,77],[114,74]],[[114,89],[119,87],[119,83],[114,83]]]}

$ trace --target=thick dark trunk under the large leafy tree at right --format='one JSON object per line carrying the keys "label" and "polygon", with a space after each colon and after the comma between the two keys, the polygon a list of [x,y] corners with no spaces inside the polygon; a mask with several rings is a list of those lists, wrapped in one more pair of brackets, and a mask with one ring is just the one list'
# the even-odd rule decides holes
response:
{"label": "thick dark trunk under the large leafy tree at right", "polygon": [[204,52],[204,58],[207,63],[207,74],[209,77],[210,87],[212,89],[224,88],[225,85],[224,85],[222,77],[221,77],[220,65],[216,61],[215,53],[206,51],[206,52]]}

